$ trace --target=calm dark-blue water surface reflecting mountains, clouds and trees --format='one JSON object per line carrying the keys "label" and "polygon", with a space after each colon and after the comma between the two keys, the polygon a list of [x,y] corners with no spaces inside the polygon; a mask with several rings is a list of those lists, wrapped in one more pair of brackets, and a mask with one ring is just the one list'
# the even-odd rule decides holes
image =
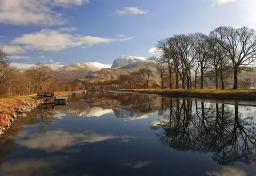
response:
{"label": "calm dark-blue water surface reflecting mountains, clouds and trees", "polygon": [[0,138],[0,175],[256,175],[256,107],[89,92]]}

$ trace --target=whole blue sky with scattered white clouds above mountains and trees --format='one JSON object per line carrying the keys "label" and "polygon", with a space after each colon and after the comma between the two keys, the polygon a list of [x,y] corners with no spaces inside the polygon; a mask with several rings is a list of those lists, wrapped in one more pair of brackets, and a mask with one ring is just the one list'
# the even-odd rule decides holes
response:
{"label": "whole blue sky with scattered white clouds above mountains and trees", "polygon": [[174,34],[256,29],[255,0],[0,0],[0,46],[12,65],[149,57]]}

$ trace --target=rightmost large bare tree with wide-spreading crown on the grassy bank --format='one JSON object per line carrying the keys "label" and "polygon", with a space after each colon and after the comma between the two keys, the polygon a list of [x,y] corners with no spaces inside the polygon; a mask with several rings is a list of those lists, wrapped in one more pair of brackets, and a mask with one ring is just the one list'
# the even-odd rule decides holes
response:
{"label": "rightmost large bare tree with wide-spreading crown on the grassy bank", "polygon": [[241,66],[251,66],[256,60],[256,33],[248,27],[233,28],[221,26],[210,33],[224,50],[230,59],[234,69],[234,87],[238,89],[238,73]]}

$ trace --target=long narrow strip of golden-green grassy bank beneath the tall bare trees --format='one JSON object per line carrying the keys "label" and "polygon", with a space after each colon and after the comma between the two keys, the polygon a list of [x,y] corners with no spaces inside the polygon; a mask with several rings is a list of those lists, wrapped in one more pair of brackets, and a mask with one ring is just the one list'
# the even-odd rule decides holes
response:
{"label": "long narrow strip of golden-green grassy bank beneath the tall bare trees", "polygon": [[139,93],[167,95],[170,97],[193,97],[230,100],[256,100],[256,90],[215,90],[215,89],[132,89],[121,90]]}

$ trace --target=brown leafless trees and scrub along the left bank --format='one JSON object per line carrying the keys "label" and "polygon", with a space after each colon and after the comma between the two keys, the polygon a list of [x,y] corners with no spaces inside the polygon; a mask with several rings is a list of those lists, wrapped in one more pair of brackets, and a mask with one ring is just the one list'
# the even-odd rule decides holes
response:
{"label": "brown leafless trees and scrub along the left bank", "polygon": [[0,47],[0,97],[79,89],[78,83],[57,83],[55,74],[59,71],[42,63],[27,69],[11,67],[9,55]]}

